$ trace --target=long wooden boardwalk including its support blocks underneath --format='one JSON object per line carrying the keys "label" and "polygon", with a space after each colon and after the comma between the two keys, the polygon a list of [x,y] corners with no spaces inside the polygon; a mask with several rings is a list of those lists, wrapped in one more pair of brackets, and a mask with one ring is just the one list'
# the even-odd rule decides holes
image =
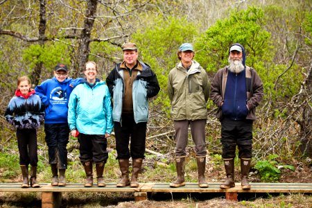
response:
{"label": "long wooden boardwalk including its support blocks underneath", "polygon": [[0,192],[41,192],[42,207],[60,207],[62,192],[132,192],[135,200],[146,200],[147,193],[225,193],[225,198],[237,200],[238,193],[312,193],[312,183],[251,183],[252,189],[241,189],[241,183],[231,189],[220,189],[220,183],[209,183],[208,188],[200,188],[196,183],[187,183],[185,187],[171,188],[168,183],[141,183],[137,188],[116,187],[116,183],[106,187],[83,187],[83,184],[67,184],[66,187],[52,187],[40,183],[40,188],[21,189],[21,183],[0,183]]}

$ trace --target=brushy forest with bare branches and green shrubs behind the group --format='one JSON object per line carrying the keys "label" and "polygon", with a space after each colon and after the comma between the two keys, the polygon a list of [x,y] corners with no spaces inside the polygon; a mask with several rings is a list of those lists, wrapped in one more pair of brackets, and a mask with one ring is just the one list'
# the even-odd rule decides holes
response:
{"label": "brushy forest with bare branches and green shrubs behind the group", "polygon": [[[311,182],[311,9],[309,0],[0,0],[1,182],[19,181],[15,130],[3,117],[17,88],[17,78],[27,75],[34,86],[38,85],[53,76],[59,62],[69,66],[71,78],[77,78],[83,76],[85,62],[93,60],[98,63],[99,78],[105,80],[114,64],[122,61],[121,45],[129,41],[137,44],[139,59],[155,71],[161,86],[158,96],[150,101],[146,141],[150,156],[143,180],[170,182],[175,177],[174,131],[166,83],[168,72],[178,62],[180,44],[194,45],[195,60],[211,80],[227,65],[229,46],[239,42],[247,51],[246,64],[257,70],[264,85],[265,96],[254,123],[254,181],[285,182],[283,174],[302,172],[308,176],[297,177],[296,182]],[[207,109],[207,174],[211,181],[219,182],[224,177],[220,123],[211,101]],[[49,182],[42,128],[38,144],[40,179]],[[84,176],[77,147],[71,137],[71,181]],[[114,182],[119,177],[114,137],[109,147],[110,162],[116,170],[106,176]],[[189,155],[193,155],[191,138]],[[189,170],[188,180],[196,179],[191,174],[196,172],[192,159]]]}

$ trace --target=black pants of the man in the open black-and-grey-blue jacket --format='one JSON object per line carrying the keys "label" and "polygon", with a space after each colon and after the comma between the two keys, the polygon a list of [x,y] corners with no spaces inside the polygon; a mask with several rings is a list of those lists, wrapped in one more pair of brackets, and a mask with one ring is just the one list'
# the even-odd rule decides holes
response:
{"label": "black pants of the man in the open black-and-grey-blue jacket", "polygon": [[135,123],[133,114],[122,114],[121,121],[114,123],[117,159],[144,159],[147,123]]}

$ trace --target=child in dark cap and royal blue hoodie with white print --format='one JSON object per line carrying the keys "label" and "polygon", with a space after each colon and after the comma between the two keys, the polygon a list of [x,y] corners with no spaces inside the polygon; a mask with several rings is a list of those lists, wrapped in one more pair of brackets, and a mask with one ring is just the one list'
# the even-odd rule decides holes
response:
{"label": "child in dark cap and royal blue hoodie with white print", "polygon": [[[54,77],[45,80],[35,87],[45,107],[44,132],[49,150],[49,164],[52,172],[52,186],[66,185],[65,171],[67,169],[67,144],[69,142],[69,126],[67,123],[69,95],[81,78],[68,78],[68,68],[65,64],[57,64]],[[58,177],[58,172],[60,177]]]}

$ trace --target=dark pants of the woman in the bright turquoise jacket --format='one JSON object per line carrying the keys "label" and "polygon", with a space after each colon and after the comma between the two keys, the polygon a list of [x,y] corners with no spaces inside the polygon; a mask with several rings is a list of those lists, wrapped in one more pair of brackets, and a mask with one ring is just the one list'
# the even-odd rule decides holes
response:
{"label": "dark pants of the woman in the bright turquoise jacket", "polygon": [[105,135],[85,135],[80,133],[78,136],[80,144],[80,162],[93,161],[95,163],[106,163],[108,158],[107,153],[107,139]]}

